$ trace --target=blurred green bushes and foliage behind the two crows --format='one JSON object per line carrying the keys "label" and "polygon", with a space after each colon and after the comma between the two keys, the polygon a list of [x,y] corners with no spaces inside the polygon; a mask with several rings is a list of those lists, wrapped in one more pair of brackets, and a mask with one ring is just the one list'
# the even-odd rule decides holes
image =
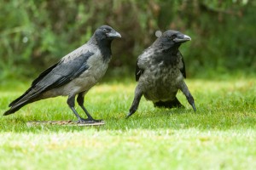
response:
{"label": "blurred green bushes and foliage behind the two crows", "polygon": [[107,77],[133,77],[137,56],[155,31],[192,38],[180,48],[188,77],[255,76],[256,1],[253,0],[0,0],[0,80],[36,77],[89,40],[98,26],[113,26]]}

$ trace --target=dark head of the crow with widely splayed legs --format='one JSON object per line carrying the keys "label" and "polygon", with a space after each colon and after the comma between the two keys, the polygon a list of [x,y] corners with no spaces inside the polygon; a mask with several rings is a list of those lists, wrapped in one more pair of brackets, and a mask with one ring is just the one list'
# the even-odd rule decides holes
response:
{"label": "dark head of the crow with widely splayed legs", "polygon": [[190,41],[191,38],[179,31],[168,30],[165,31],[157,40],[154,45],[163,48],[178,48],[181,43]]}

